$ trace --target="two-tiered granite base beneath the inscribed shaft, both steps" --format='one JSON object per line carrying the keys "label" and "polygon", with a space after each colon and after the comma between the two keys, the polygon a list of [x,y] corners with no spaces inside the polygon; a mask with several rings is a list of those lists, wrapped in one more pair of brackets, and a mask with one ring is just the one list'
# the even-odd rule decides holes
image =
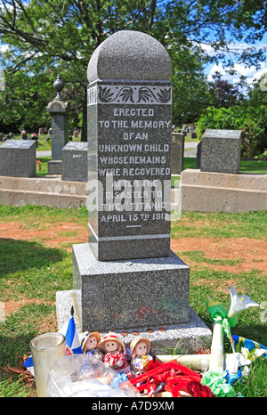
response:
{"label": "two-tiered granite base beneath the inscribed shaft, both steps", "polygon": [[166,258],[97,261],[89,244],[73,245],[73,289],[56,293],[59,330],[74,319],[79,333],[117,332],[129,346],[148,338],[157,354],[209,348],[212,332],[189,306],[190,268]]}

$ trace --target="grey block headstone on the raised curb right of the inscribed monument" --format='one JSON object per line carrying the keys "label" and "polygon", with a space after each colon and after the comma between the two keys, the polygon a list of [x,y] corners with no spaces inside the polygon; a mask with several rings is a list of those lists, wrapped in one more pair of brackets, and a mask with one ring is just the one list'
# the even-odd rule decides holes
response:
{"label": "grey block headstone on the raised curb right of the inscribed monument", "polygon": [[206,129],[202,137],[200,170],[238,174],[241,130]]}

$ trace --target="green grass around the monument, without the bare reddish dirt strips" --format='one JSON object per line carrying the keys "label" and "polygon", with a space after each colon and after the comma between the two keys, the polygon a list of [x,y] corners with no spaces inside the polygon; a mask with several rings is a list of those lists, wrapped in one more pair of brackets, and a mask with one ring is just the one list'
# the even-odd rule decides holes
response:
{"label": "green grass around the monument, without the bare reddish dirt strips", "polygon": [[[56,209],[45,207],[10,207],[0,206],[1,221],[20,221],[26,229],[42,228],[46,223],[59,224],[71,221],[84,224],[87,228],[86,208]],[[266,240],[266,212],[247,214],[200,214],[183,213],[181,220],[171,224],[172,238],[205,237],[219,240],[222,237],[255,238]],[[71,232],[71,235],[73,233]],[[68,231],[66,231],[68,238]],[[241,240],[240,240],[241,243]],[[66,240],[66,247],[68,240]],[[10,313],[0,323],[0,355],[1,366],[9,364],[16,367],[17,355],[29,353],[29,342],[37,334],[56,326],[55,295],[57,291],[72,289],[72,256],[61,248],[44,247],[38,240],[1,239],[0,232],[0,301],[26,302],[17,311]],[[252,244],[253,248],[253,244]],[[212,329],[206,311],[207,296],[213,297],[226,306],[229,294],[226,288],[234,285],[239,294],[247,294],[259,304],[266,301],[266,275],[256,268],[243,273],[218,271],[218,264],[235,265],[242,258],[232,259],[208,258],[204,252],[196,248],[179,255],[186,263],[194,261],[198,266],[190,266],[190,306],[199,317]],[[208,265],[208,267],[207,267]],[[213,269],[214,266],[214,269]],[[263,310],[251,307],[240,313],[237,325],[232,334],[267,345],[266,322],[261,318]],[[54,330],[54,329],[53,329]],[[231,353],[227,338],[224,350]],[[179,353],[179,345],[177,346]],[[252,365],[249,377],[237,385],[237,390],[245,396],[267,396],[266,387],[267,361],[261,358]],[[33,395],[32,389],[20,377],[12,379],[3,373],[1,379],[1,396]]]}

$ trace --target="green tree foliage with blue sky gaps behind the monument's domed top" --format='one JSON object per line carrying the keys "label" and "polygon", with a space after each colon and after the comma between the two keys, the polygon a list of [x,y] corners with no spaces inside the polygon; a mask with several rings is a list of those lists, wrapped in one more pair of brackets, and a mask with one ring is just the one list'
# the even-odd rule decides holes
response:
{"label": "green tree foliage with blue sky gaps behind the monument's domed top", "polygon": [[[85,133],[88,61],[103,40],[125,29],[148,33],[166,46],[174,67],[174,123],[196,118],[208,100],[207,62],[223,60],[232,67],[234,62],[257,66],[263,60],[254,43],[266,30],[264,17],[263,0],[2,0],[0,40],[8,46],[1,56],[7,79],[0,97],[2,122],[16,99],[21,99],[12,108],[16,119],[28,115],[31,125],[49,122],[45,104],[61,73],[65,93],[74,97],[73,122],[83,112]],[[240,49],[240,40],[247,47]],[[208,47],[214,53],[207,53]]]}

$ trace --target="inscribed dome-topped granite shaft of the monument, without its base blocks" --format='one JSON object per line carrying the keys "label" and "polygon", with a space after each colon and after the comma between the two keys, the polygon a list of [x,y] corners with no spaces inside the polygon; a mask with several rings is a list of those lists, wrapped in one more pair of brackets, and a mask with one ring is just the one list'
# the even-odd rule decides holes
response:
{"label": "inscribed dome-topped granite shaft of the monument, without its base blocks", "polygon": [[99,260],[169,256],[171,73],[166,49],[128,30],[89,62],[89,244]]}

